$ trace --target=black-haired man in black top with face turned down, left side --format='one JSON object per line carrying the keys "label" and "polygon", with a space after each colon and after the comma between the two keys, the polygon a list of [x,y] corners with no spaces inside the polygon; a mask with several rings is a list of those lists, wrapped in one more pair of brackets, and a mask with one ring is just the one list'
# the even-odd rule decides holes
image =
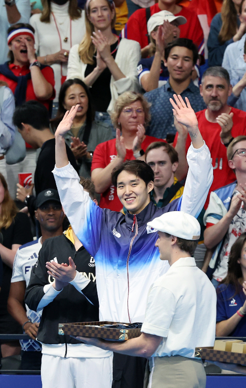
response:
{"label": "black-haired man in black top with face turned down, left side", "polygon": [[[57,190],[52,170],[55,166],[55,136],[50,131],[49,112],[38,101],[27,101],[17,106],[13,115],[13,123],[18,128],[23,139],[34,149],[41,148],[34,173],[34,187],[36,196],[43,190],[52,188]],[[66,152],[71,165],[78,171],[78,166],[72,151],[66,145]],[[32,196],[33,185],[24,188],[17,183],[17,199],[28,206],[33,216],[36,209],[36,198]]]}

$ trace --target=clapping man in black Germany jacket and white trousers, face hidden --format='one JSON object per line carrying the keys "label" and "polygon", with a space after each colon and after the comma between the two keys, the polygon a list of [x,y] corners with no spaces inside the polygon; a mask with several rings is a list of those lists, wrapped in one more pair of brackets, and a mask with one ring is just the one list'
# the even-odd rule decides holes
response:
{"label": "clapping man in black Germany jacket and white trousers, face hidden", "polygon": [[[83,186],[93,199],[93,183],[85,179]],[[59,271],[47,273],[53,261],[68,267],[67,282],[59,281]],[[37,334],[42,343],[42,387],[109,388],[111,353],[58,333],[59,323],[99,320],[94,258],[71,227],[65,235],[44,242],[25,302],[34,311],[43,309]]]}

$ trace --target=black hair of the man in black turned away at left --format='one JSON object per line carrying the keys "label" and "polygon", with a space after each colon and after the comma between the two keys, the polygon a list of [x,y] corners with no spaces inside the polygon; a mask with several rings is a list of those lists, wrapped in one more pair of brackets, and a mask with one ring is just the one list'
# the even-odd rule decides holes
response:
{"label": "black hair of the man in black turned away at left", "polygon": [[49,112],[43,104],[38,101],[30,100],[15,108],[13,123],[20,130],[23,129],[23,123],[29,124],[34,129],[42,131],[50,127]]}

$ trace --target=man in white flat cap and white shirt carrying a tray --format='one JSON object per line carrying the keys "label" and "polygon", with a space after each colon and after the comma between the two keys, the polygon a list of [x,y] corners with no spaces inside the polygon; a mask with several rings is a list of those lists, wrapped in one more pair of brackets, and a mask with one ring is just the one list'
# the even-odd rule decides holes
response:
{"label": "man in white flat cap and white shirt carrying a tray", "polygon": [[216,293],[191,257],[200,237],[199,222],[184,212],[168,212],[147,225],[158,230],[155,246],[170,268],[151,287],[141,336],[123,343],[77,338],[105,350],[149,358],[146,388],[205,388],[203,363],[194,354],[196,347],[214,346]]}

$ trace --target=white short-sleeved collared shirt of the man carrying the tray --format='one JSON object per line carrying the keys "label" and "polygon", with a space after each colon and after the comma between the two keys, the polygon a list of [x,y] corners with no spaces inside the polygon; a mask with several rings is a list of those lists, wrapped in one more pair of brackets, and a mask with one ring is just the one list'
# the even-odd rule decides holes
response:
{"label": "white short-sleeved collared shirt of the man carrying the tray", "polygon": [[141,331],[163,337],[153,356],[193,358],[196,347],[214,346],[216,292],[193,257],[183,257],[150,290]]}

